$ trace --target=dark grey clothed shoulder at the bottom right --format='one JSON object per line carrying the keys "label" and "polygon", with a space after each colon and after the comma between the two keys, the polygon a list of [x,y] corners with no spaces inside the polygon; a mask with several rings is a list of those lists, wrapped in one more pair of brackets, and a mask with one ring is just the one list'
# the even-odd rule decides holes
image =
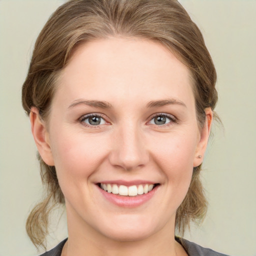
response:
{"label": "dark grey clothed shoulder at the bottom right", "polygon": [[189,256],[227,256],[226,254],[222,254],[220,252],[216,252],[209,248],[204,248],[194,242],[190,242],[186,239],[182,239],[182,242],[179,242],[186,249]]}

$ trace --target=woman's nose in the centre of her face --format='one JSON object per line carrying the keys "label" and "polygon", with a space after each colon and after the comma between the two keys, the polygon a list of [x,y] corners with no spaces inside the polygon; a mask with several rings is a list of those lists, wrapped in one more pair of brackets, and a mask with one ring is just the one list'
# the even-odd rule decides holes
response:
{"label": "woman's nose in the centre of her face", "polygon": [[135,125],[122,127],[115,132],[109,161],[124,170],[142,167],[149,161],[145,139]]}

